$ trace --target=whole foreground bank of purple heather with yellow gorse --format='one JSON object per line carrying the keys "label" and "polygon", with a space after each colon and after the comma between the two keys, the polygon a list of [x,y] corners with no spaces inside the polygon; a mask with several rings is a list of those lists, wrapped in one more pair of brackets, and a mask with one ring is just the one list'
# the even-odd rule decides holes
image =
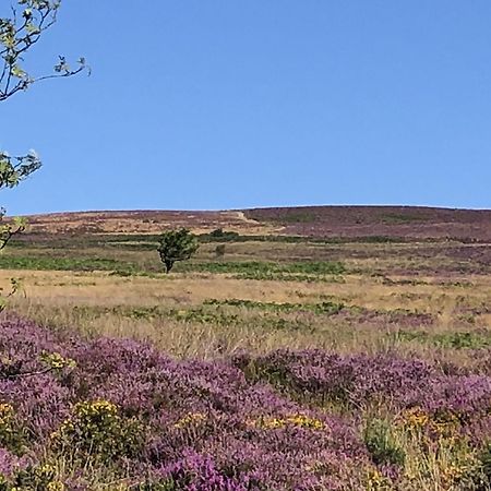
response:
{"label": "whole foreground bank of purple heather with yellow gorse", "polygon": [[491,379],[323,351],[176,361],[0,324],[0,490],[486,490]]}

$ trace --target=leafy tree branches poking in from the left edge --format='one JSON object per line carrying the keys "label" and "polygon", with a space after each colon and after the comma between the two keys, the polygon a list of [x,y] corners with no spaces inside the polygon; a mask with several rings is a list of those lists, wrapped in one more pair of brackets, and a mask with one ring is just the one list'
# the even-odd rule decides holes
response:
{"label": "leafy tree branches poking in from the left edge", "polygon": [[[80,58],[76,67],[71,68],[67,59],[58,57],[52,72],[36,75],[25,67],[27,51],[36,45],[44,33],[57,22],[61,0],[16,0],[10,5],[9,16],[2,17],[0,12],[0,101],[26,91],[36,82],[76,75],[89,69],[84,58]],[[0,190],[15,188],[41,166],[35,152],[25,156],[11,156],[0,151]],[[0,208],[0,221],[5,214]],[[0,225],[0,249],[3,249],[15,233],[23,231],[25,223]]]}

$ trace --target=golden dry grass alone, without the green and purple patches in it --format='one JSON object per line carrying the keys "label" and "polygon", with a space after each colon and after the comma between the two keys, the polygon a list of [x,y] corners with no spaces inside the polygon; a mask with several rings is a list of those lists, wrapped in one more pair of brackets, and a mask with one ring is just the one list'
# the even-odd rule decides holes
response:
{"label": "golden dry grass alone, without the green and purple patches in it", "polygon": [[[442,361],[470,362],[465,350],[435,349],[393,336],[398,326],[351,325],[336,316],[313,313],[264,314],[248,309],[225,309],[236,314],[233,325],[219,322],[179,320],[172,315],[133,318],[122,307],[137,309],[195,309],[211,298],[247,299],[259,302],[319,303],[342,301],[370,310],[407,309],[432,313],[432,333],[487,326],[489,315],[476,316],[476,326],[459,322],[456,311],[463,306],[479,306],[491,300],[490,278],[467,278],[472,288],[440,285],[384,285],[380,278],[346,276],[346,283],[299,283],[233,279],[218,274],[176,274],[157,278],[119,277],[107,273],[2,271],[0,286],[8,288],[11,277],[23,284],[22,294],[10,302],[23,315],[56,327],[74,328],[86,336],[122,336],[153,343],[177,357],[216,358],[248,349],[324,348],[338,352],[381,352]],[[426,278],[431,282],[432,278]],[[82,309],[85,308],[85,309]],[[273,319],[273,320],[272,320]],[[279,321],[285,323],[278,324]],[[416,328],[417,330],[417,328]]]}

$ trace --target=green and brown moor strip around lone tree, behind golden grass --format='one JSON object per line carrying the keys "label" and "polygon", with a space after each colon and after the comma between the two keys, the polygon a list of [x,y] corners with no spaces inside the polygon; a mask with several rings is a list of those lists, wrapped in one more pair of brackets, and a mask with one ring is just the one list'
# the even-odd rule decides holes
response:
{"label": "green and brown moor strip around lone tree, behind golden grass", "polygon": [[[33,270],[115,271],[121,275],[160,271],[158,236],[24,235],[11,241],[0,267]],[[285,240],[284,240],[285,239]],[[378,239],[378,238],[376,238]],[[384,284],[417,285],[444,282],[471,285],[468,278],[491,272],[491,247],[459,241],[393,242],[323,240],[278,236],[227,239],[216,254],[216,241],[201,236],[201,252],[176,272],[231,274],[241,279],[343,282],[346,274],[369,274]],[[221,243],[221,242],[218,242]],[[157,259],[157,261],[156,261]],[[418,276],[436,276],[429,282]],[[442,278],[442,275],[451,276]],[[399,276],[399,278],[394,278]],[[400,277],[403,276],[403,277]]]}

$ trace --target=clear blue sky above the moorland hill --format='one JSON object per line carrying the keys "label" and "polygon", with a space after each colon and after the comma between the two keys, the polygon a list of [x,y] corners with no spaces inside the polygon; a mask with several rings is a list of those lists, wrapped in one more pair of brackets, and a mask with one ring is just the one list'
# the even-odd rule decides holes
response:
{"label": "clear blue sky above the moorland hill", "polygon": [[490,0],[62,3],[26,64],[93,75],[0,106],[12,214],[491,207]]}

